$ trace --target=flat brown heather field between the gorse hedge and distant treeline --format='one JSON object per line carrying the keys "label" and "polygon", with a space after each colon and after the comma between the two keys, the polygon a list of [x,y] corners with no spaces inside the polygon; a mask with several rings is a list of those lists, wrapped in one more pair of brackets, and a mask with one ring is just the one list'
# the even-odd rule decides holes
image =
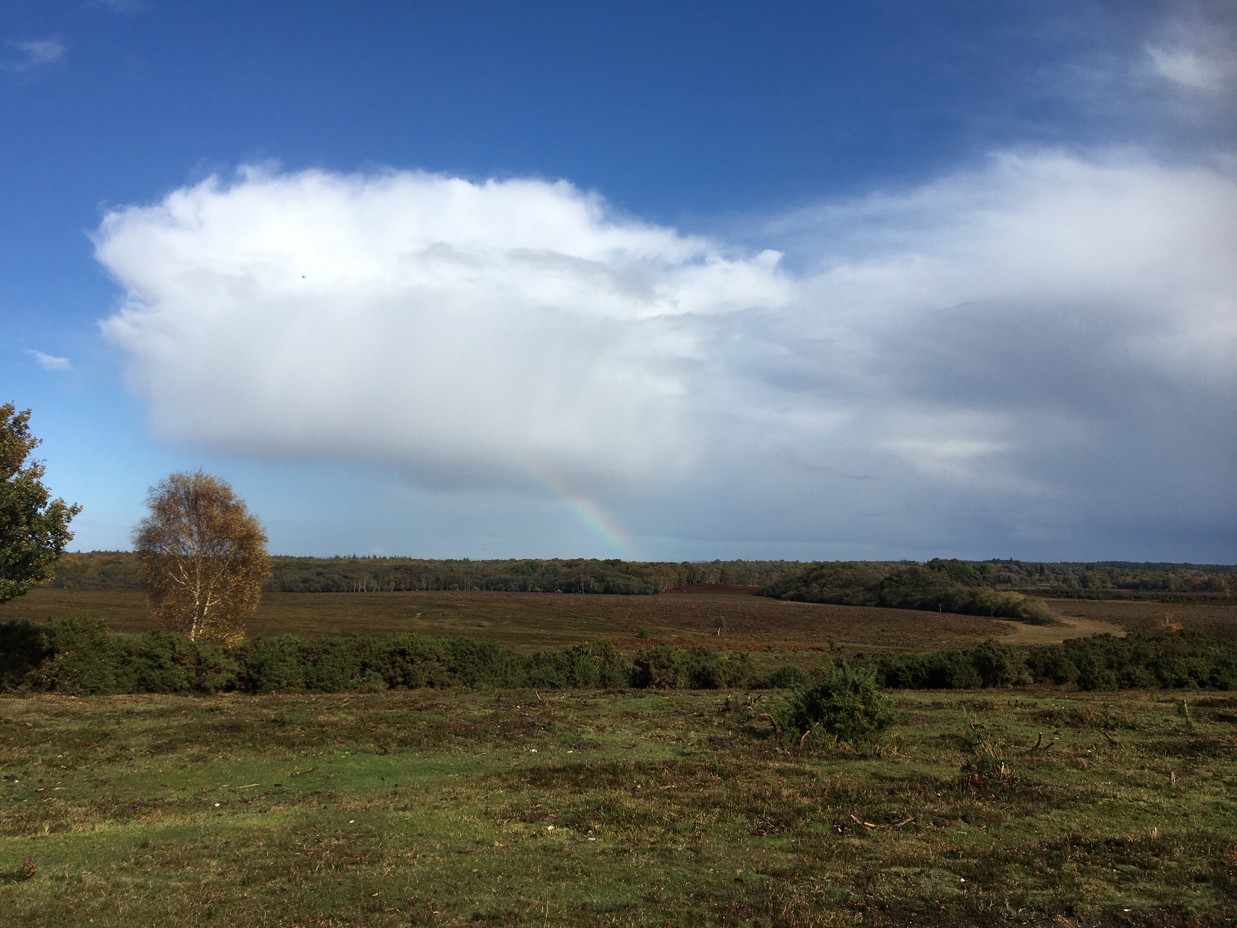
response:
{"label": "flat brown heather field between the gorse hedge and distant treeline", "polygon": [[[949,612],[903,609],[831,606],[783,603],[764,596],[705,591],[661,596],[597,596],[541,593],[267,593],[250,634],[468,635],[495,638],[521,651],[564,647],[584,641],[618,640],[623,650],[641,643],[636,635],[674,640],[684,637],[721,647],[753,650],[764,663],[819,662],[804,647],[828,648],[836,642],[847,651],[888,648],[934,651],[966,647],[990,637],[1025,643],[1063,637],[1152,627],[1165,611],[1175,621],[1205,624],[1209,631],[1237,629],[1237,606],[1186,605],[1166,609],[1154,603],[1080,603],[1049,600],[1061,626],[1018,622]],[[139,590],[37,589],[0,606],[0,621],[46,621],[73,612],[104,619],[116,632],[153,631],[155,625]],[[726,617],[721,636],[713,620]],[[767,657],[762,657],[767,655]]]}

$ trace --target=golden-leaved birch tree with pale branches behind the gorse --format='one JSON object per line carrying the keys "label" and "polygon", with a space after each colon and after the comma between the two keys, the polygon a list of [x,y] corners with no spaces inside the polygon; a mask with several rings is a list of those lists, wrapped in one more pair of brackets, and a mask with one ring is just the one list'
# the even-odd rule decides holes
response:
{"label": "golden-leaved birch tree with pale branches behind the gorse", "polygon": [[200,470],[165,478],[146,504],[134,547],[158,624],[192,641],[242,641],[271,575],[257,518],[226,480]]}

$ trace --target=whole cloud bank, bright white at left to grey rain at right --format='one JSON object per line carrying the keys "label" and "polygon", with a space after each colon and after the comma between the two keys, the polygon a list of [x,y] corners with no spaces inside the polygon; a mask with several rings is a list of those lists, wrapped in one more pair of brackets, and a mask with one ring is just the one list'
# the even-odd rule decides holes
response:
{"label": "whole cloud bank, bright white at left to grey rain at right", "polygon": [[246,170],[105,218],[103,327],[165,434],[546,480],[646,536],[1231,542],[1231,162],[1007,153],[732,238],[562,182]]}

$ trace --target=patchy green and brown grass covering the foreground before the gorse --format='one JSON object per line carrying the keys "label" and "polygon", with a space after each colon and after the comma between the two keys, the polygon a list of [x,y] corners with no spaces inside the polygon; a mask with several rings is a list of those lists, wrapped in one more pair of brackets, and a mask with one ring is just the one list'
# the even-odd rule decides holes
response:
{"label": "patchy green and brown grass covering the foreground before the gorse", "polygon": [[899,694],[867,756],[772,698],[5,699],[0,921],[1232,924],[1232,697]]}

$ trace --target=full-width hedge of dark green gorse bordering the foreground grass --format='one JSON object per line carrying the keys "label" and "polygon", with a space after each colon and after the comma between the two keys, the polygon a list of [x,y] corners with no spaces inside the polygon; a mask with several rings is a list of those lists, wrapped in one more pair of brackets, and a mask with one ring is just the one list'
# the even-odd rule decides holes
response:
{"label": "full-width hedge of dark green gorse bordering the foreground grass", "polygon": [[[785,666],[760,674],[746,655],[657,645],[631,661],[610,642],[522,655],[495,641],[402,634],[254,638],[233,648],[199,645],[168,632],[113,635],[98,620],[69,616],[38,625],[0,625],[0,692],[105,695],[346,693],[474,687],[783,688],[808,689],[841,662],[815,674]],[[930,655],[856,655],[877,682],[901,689],[972,689],[1028,683],[1081,689],[1237,688],[1237,641],[1199,631],[1096,635],[1045,645],[1021,658],[987,641]]]}

